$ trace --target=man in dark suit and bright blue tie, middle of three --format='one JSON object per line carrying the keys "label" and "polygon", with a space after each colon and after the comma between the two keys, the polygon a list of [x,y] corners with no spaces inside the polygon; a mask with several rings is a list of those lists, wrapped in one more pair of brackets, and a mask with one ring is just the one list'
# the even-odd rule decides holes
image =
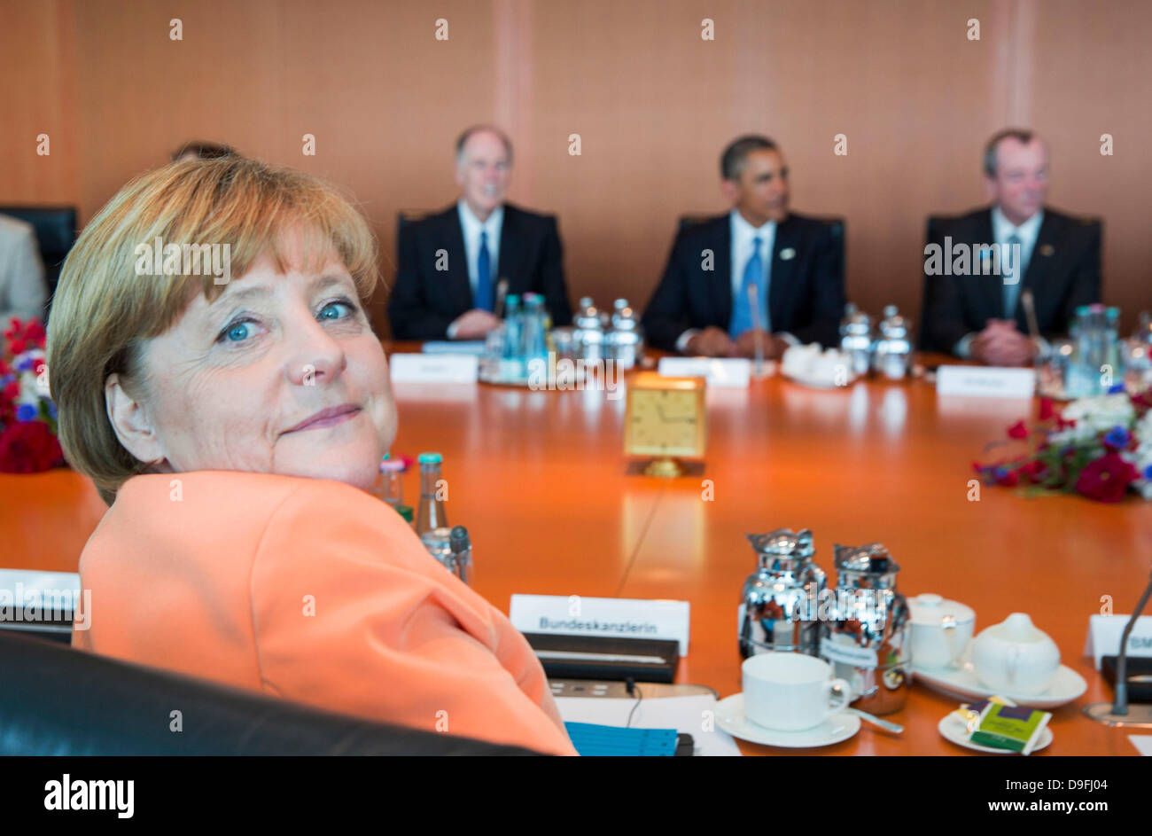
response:
{"label": "man in dark suit and bright blue tie, middle of three", "polygon": [[[681,229],[644,310],[649,342],[707,356],[765,357],[839,341],[844,278],[828,226],[788,211],[788,167],[763,136],[720,157],[726,214]],[[751,289],[755,288],[755,289]],[[755,303],[753,303],[755,300]]]}

